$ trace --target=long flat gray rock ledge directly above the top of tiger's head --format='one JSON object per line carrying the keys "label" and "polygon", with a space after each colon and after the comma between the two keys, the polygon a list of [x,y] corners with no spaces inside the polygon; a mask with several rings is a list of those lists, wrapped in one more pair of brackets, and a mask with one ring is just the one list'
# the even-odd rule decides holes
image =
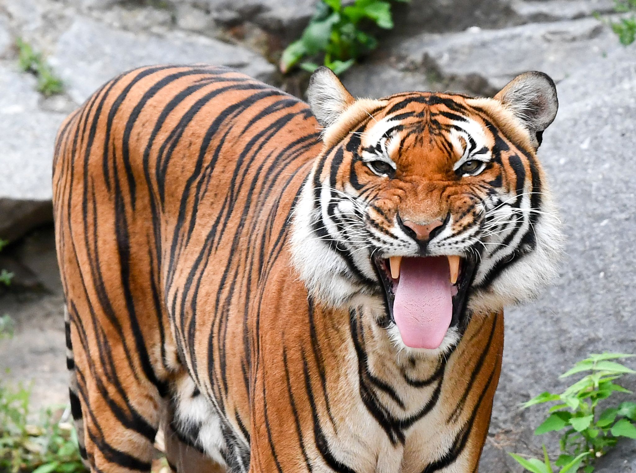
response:
{"label": "long flat gray rock ledge directly above the top of tiger's head", "polygon": [[400,50],[407,60],[438,70],[446,78],[462,80],[476,74],[499,90],[516,74],[533,69],[560,81],[616,47],[616,36],[607,27],[586,18],[502,30],[424,34],[405,41]]}

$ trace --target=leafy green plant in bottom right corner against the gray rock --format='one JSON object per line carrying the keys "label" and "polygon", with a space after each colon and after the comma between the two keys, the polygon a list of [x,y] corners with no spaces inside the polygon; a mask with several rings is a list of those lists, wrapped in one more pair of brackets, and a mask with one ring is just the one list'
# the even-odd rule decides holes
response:
{"label": "leafy green plant in bottom right corner against the gray rock", "polygon": [[[583,467],[584,473],[594,470],[593,462],[605,455],[619,437],[636,439],[636,402],[622,402],[618,406],[600,410],[598,404],[616,392],[632,394],[616,381],[625,374],[636,371],[614,360],[633,357],[625,353],[593,353],[577,362],[560,378],[577,373],[588,373],[560,394],[543,392],[523,404],[529,408],[536,404],[551,402],[548,417],[535,430],[535,435],[562,432],[559,446],[562,455],[555,462],[560,473],[576,472]],[[526,470],[534,473],[554,473],[548,453],[544,447],[544,458],[522,458],[510,454]]]}

